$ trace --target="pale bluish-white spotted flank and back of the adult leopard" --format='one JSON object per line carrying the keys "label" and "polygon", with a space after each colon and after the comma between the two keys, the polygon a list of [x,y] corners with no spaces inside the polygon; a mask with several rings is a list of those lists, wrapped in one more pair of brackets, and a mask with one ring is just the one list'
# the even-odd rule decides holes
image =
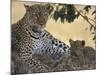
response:
{"label": "pale bluish-white spotted flank and back of the adult leopard", "polygon": [[42,37],[38,39],[33,38],[36,39],[32,48],[33,54],[50,55],[54,63],[59,63],[65,55],[70,55],[69,46],[54,38],[49,32],[44,30],[40,35]]}

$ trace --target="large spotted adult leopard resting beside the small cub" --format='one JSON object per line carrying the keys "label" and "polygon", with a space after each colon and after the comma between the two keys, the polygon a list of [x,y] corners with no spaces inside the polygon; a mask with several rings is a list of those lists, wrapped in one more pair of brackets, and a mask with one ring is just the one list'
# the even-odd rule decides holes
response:
{"label": "large spotted adult leopard resting beside the small cub", "polygon": [[[35,59],[34,55],[50,56],[52,62],[58,64],[63,57],[70,56],[69,46],[45,30],[53,11],[50,4],[24,4],[24,7],[24,17],[11,26],[11,61],[14,63],[14,73],[50,72],[52,70],[49,66]],[[20,68],[23,71],[19,72]]]}

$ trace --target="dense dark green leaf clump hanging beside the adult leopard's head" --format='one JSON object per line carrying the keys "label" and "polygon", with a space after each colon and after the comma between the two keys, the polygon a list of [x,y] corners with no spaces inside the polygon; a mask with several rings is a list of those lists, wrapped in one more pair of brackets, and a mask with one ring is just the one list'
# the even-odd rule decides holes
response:
{"label": "dense dark green leaf clump hanging beside the adult leopard's head", "polygon": [[[58,9],[60,7],[62,8]],[[74,5],[67,5],[67,4],[58,4],[53,14],[53,19],[57,21],[60,18],[60,21],[62,23],[64,23],[65,20],[68,23],[71,23],[78,17],[79,13],[75,11]]]}

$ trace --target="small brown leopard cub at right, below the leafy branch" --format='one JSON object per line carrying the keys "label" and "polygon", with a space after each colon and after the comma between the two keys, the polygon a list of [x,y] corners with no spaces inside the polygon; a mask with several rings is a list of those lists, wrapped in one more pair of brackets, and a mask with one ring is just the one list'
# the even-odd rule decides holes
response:
{"label": "small brown leopard cub at right, below the leafy branch", "polygon": [[90,46],[85,46],[85,40],[69,40],[71,50],[71,61],[75,69],[95,69],[96,50]]}

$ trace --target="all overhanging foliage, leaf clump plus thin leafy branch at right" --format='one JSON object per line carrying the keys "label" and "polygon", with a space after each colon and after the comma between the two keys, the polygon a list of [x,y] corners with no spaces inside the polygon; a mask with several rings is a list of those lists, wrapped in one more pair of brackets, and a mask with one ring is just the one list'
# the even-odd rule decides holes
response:
{"label": "all overhanging foliage, leaf clump plus thin leafy branch at right", "polygon": [[91,34],[94,35],[93,40],[96,39],[96,32],[95,32],[96,31],[96,25],[95,25],[96,17],[94,16],[96,14],[96,10],[94,10],[91,14],[92,16],[94,16],[94,19],[91,19],[86,15],[92,9],[91,6],[87,5],[81,10],[78,10],[75,7],[75,5],[72,5],[72,4],[53,4],[53,6],[55,10],[53,10],[54,13],[52,14],[52,18],[55,21],[58,21],[60,19],[61,23],[64,23],[66,21],[68,23],[72,23],[75,21],[75,19],[78,19],[79,16],[81,16],[90,25],[90,27],[86,29],[89,29]]}

